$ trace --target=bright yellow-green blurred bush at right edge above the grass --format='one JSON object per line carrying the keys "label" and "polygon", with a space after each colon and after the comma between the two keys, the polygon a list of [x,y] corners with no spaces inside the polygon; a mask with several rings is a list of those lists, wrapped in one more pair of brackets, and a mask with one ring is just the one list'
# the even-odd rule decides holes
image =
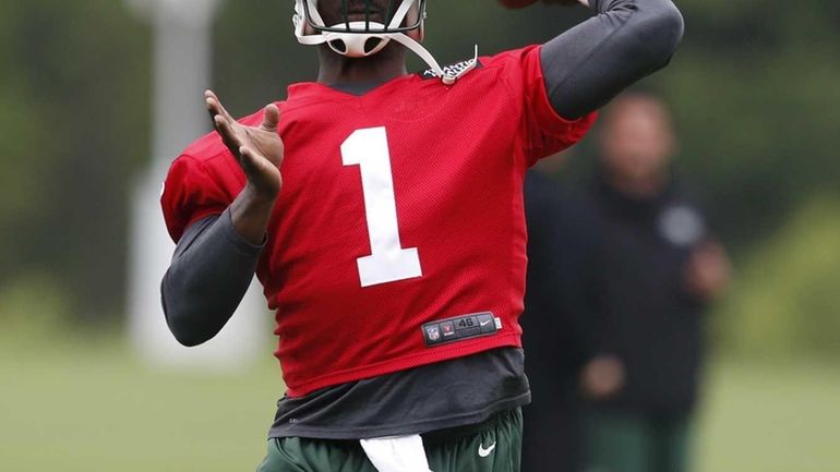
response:
{"label": "bright yellow-green blurred bush at right edge above the grass", "polygon": [[840,358],[840,198],[814,195],[745,257],[716,338],[771,359]]}

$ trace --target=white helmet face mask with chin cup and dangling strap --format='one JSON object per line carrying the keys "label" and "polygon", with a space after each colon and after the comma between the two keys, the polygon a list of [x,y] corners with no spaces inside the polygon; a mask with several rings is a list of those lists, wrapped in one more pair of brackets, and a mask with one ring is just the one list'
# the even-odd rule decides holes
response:
{"label": "white helmet face mask with chin cup and dangling strap", "polygon": [[[391,22],[391,25],[386,27],[382,23],[377,22],[350,22],[348,23],[340,23],[338,25],[334,25],[331,28],[338,29],[338,28],[358,28],[367,29],[365,33],[338,33],[338,32],[320,32],[317,34],[305,34],[305,27],[307,27],[307,12],[303,9],[302,2],[307,1],[309,2],[309,14],[311,15],[311,20],[316,24],[324,24],[324,21],[321,17],[321,14],[317,12],[317,5],[315,4],[315,0],[297,0],[295,5],[295,36],[298,38],[298,43],[302,45],[308,46],[315,46],[315,45],[322,45],[326,44],[329,46],[331,49],[333,49],[336,53],[339,53],[341,56],[346,56],[348,58],[367,58],[370,56],[375,55],[376,52],[380,52],[382,49],[385,48],[385,46],[391,43],[391,40],[395,40],[412,52],[415,52],[417,56],[420,57],[423,61],[425,61],[427,64],[432,69],[434,74],[443,81],[446,85],[452,85],[455,82],[458,81],[458,78],[466,75],[471,70],[476,69],[478,65],[478,46],[476,46],[475,56],[473,58],[467,62],[466,66],[459,68],[457,72],[454,71],[445,71],[443,68],[441,68],[441,64],[437,63],[437,61],[434,59],[434,56],[432,56],[431,52],[429,52],[428,49],[425,49],[417,39],[409,36],[405,33],[376,33],[376,29],[380,31],[387,31],[388,28],[398,28],[399,25],[403,23],[403,19],[408,14],[408,11],[411,8],[412,2],[410,1],[404,1],[399,9],[394,13],[394,17]],[[419,12],[419,14],[422,14],[422,12]],[[411,32],[412,36],[417,36],[420,40],[422,40],[422,19],[421,19],[421,25],[419,27],[420,31]],[[379,39],[379,44],[373,47],[370,50],[367,50],[367,44],[370,39]],[[344,45],[344,50],[341,50],[338,46],[336,46],[336,43],[340,43]]]}

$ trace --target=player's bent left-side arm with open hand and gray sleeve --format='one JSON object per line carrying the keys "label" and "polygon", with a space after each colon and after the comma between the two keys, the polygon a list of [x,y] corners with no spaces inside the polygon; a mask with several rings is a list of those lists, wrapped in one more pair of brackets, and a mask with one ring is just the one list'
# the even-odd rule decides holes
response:
{"label": "player's bent left-side arm with open hand and gray sleeve", "polygon": [[216,131],[248,182],[220,216],[187,228],[164,276],[160,293],[167,324],[184,346],[216,336],[242,301],[283,182],[277,107],[266,107],[260,126],[245,126],[231,118],[215,94],[207,92],[205,99]]}

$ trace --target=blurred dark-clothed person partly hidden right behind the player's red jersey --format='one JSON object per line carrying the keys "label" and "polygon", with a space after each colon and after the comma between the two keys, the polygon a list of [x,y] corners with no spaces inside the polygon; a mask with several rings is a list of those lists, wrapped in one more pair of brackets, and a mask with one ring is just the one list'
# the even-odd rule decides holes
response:
{"label": "blurred dark-clothed person partly hidden right behind the player's red jersey", "polygon": [[[583,455],[578,388],[586,359],[584,318],[597,287],[593,215],[552,179],[571,152],[541,160],[525,179],[528,274],[520,318],[531,404],[523,409],[523,470],[575,472]],[[589,219],[588,222],[583,222]],[[567,247],[576,246],[577,251]]]}

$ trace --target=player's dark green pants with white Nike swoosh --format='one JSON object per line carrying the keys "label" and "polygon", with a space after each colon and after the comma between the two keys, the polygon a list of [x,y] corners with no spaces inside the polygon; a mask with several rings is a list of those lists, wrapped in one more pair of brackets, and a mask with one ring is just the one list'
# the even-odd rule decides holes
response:
{"label": "player's dark green pants with white Nike swoosh", "polygon": [[[423,435],[433,472],[519,472],[520,409],[485,422]],[[272,438],[257,472],[377,472],[357,440]]]}

